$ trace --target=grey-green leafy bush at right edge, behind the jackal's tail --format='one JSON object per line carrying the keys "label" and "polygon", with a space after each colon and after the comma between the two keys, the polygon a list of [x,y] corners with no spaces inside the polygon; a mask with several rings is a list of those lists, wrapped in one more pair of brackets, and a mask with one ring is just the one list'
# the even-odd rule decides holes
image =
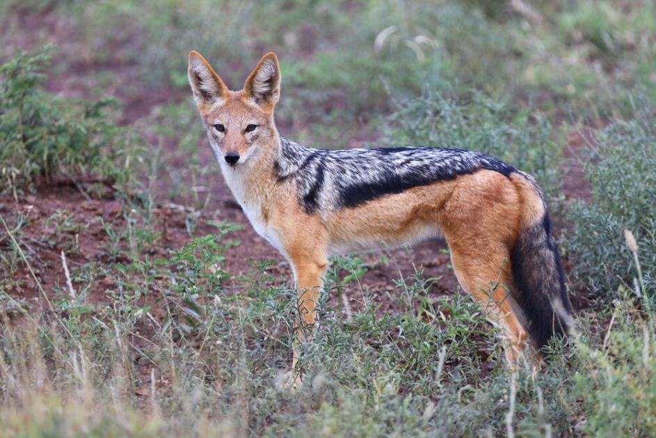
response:
{"label": "grey-green leafy bush at right edge, behind the jackal's tail", "polygon": [[636,276],[623,230],[637,241],[646,290],[656,291],[656,122],[645,111],[595,136],[584,169],[592,199],[569,211],[575,232],[566,244],[574,253],[573,277],[602,297],[616,296]]}

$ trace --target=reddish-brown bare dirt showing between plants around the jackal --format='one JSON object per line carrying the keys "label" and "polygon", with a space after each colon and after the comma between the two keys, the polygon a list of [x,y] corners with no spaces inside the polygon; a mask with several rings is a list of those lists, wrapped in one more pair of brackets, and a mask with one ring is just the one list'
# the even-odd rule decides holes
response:
{"label": "reddish-brown bare dirt showing between plants around the jackal", "polygon": [[[179,94],[179,92],[172,94],[161,89],[152,90],[141,84],[138,66],[126,49],[128,42],[135,44],[136,40],[138,44],[138,35],[128,35],[112,41],[111,57],[99,63],[93,60],[88,49],[83,49],[84,36],[79,29],[76,29],[69,20],[47,10],[38,14],[15,12],[6,18],[3,29],[0,32],[4,46],[0,54],[3,58],[10,56],[18,48],[35,49],[45,42],[58,45],[59,50],[53,68],[53,71],[58,73],[51,75],[47,81],[47,89],[51,92],[70,97],[94,98],[97,97],[93,94],[93,88],[97,86],[95,75],[98,72],[111,73],[113,79],[104,83],[104,93],[113,95],[124,104],[120,123],[136,123],[149,116],[158,104],[189,98],[186,94]],[[303,109],[300,108],[299,111]],[[286,134],[285,130],[282,133]],[[353,141],[348,143],[358,143],[357,136],[358,134],[354,133]],[[166,148],[176,147],[175,142],[166,145]],[[173,153],[175,150],[169,152],[175,155]],[[203,160],[212,159],[207,146],[200,148],[199,153]],[[174,163],[174,165],[182,164]],[[573,159],[568,159],[567,165],[570,167],[566,169],[567,176],[563,187],[566,196],[585,197],[586,185],[580,165]],[[240,240],[241,244],[227,251],[224,269],[234,276],[239,276],[252,269],[248,259],[273,259],[280,263],[271,266],[269,272],[279,281],[289,280],[291,277],[289,266],[282,261],[280,254],[250,227],[218,173],[198,181],[197,184],[208,187],[212,192],[212,201],[202,212],[203,219],[226,220],[243,226],[242,230],[232,235],[234,239]],[[173,201],[184,203],[185,200]],[[161,204],[163,207],[154,210],[154,223],[162,236],[153,244],[151,255],[166,257],[170,249],[182,247],[191,240],[191,237],[186,232],[184,212],[168,208],[165,198],[161,198]],[[76,187],[64,185],[39,188],[34,194],[19,201],[8,197],[1,198],[0,212],[10,219],[15,218],[19,212],[25,212],[28,205],[33,206],[30,213],[31,221],[22,228],[22,242],[31,253],[42,286],[47,291],[62,291],[60,293],[65,293],[61,251],[66,252],[71,269],[90,260],[102,261],[103,258],[109,257],[107,250],[109,239],[98,218],[102,217],[110,224],[122,225],[125,222],[124,213],[129,208],[122,201],[111,197],[89,201]],[[71,212],[74,223],[81,226],[74,249],[71,249],[70,243],[76,238],[74,233],[56,235],[56,230],[47,224],[47,219],[57,210]],[[211,229],[211,226],[201,224],[195,233],[202,235],[209,233]],[[0,249],[6,245],[8,242],[0,242]],[[380,299],[381,311],[391,306],[387,304],[389,300],[386,298],[386,292],[392,290],[392,280],[399,279],[401,276],[410,276],[415,272],[415,267],[423,267],[424,278],[442,277],[442,280],[434,286],[433,294],[440,295],[445,291],[454,291],[457,283],[449,267],[449,256],[441,253],[440,249],[445,249],[445,244],[442,242],[426,242],[411,251],[396,249],[386,254],[389,259],[387,263],[378,263],[378,255],[367,254],[365,260],[369,263],[369,270],[360,279],[360,284],[362,288],[367,288],[372,295]],[[23,277],[26,287],[14,292],[29,302],[44,306],[29,270],[22,268],[17,275]],[[106,299],[104,291],[111,286],[111,279],[99,278],[97,281],[98,286],[93,288],[93,300],[102,302]],[[346,290],[346,294],[357,307],[360,302],[359,297],[362,295],[358,286],[351,286]]]}

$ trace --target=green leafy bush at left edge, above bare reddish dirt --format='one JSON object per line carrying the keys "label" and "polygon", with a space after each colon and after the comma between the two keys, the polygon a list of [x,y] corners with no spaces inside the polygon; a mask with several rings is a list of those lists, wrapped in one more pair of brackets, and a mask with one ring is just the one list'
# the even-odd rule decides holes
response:
{"label": "green leafy bush at left edge, above bare reddish dirt", "polygon": [[0,194],[22,194],[38,178],[94,179],[127,191],[141,139],[106,112],[115,101],[72,102],[44,90],[49,50],[20,52],[0,67]]}

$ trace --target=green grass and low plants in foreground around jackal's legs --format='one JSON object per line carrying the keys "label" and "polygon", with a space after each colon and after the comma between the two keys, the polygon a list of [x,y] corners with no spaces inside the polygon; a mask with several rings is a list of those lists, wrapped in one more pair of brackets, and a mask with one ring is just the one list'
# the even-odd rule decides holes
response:
{"label": "green grass and low plants in foreground around jackal's legs", "polygon": [[[580,321],[570,347],[552,345],[549,365],[534,379],[530,370],[513,377],[503,366],[481,374],[501,356],[483,313],[470,297],[434,302],[417,272],[390,292],[394,312],[381,314],[369,297],[372,304],[349,318],[322,301],[321,325],[303,345],[303,386],[289,390],[283,382],[295,292],[284,284],[263,288],[265,265],[253,268],[239,294],[225,290],[230,273],[221,268],[223,256],[238,244],[231,229],[218,224],[216,234],[196,238],[167,260],[141,257],[117,266],[110,302],[92,305],[78,287],[75,297],[63,290],[52,300],[50,324],[6,322],[3,430],[99,436],[654,431],[653,313],[640,310],[627,290],[608,311],[607,331],[591,329],[596,318],[610,316],[605,311]],[[352,272],[354,265],[342,260],[337,272],[339,266]],[[91,270],[74,269],[74,283]],[[337,281],[330,276],[328,290]],[[164,312],[161,322],[153,312]]]}

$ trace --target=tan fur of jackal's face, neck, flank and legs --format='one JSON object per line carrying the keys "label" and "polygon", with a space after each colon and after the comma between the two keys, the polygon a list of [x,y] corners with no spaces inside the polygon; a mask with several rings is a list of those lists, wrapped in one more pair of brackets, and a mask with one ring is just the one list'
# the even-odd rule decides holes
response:
{"label": "tan fur of jackal's face, neck, flank and legs", "polygon": [[[209,67],[200,54],[192,52],[192,88],[197,65]],[[275,70],[273,79],[264,80],[271,77],[271,69]],[[544,212],[541,199],[527,180],[480,170],[382,196],[356,208],[308,214],[298,203],[296,188],[279,181],[273,172],[280,142],[273,122],[280,95],[275,55],[266,54],[259,61],[241,91],[227,91],[214,70],[211,72],[216,88],[205,83],[202,86],[220,98],[208,104],[200,91],[194,91],[202,119],[206,126],[225,125],[221,152],[248,157],[250,171],[239,181],[239,190],[233,192],[257,231],[289,259],[303,324],[316,321],[317,298],[330,253],[382,242],[412,244],[442,235],[451,249],[458,281],[483,304],[490,320],[503,327],[509,343],[506,357],[514,366],[527,334],[513,290],[510,253],[522,225]],[[244,132],[250,123],[259,125],[257,148],[253,136]],[[224,169],[224,176],[233,178],[230,169]],[[302,327],[298,327],[299,341],[303,339],[301,332]],[[293,366],[296,359],[295,352]]]}

